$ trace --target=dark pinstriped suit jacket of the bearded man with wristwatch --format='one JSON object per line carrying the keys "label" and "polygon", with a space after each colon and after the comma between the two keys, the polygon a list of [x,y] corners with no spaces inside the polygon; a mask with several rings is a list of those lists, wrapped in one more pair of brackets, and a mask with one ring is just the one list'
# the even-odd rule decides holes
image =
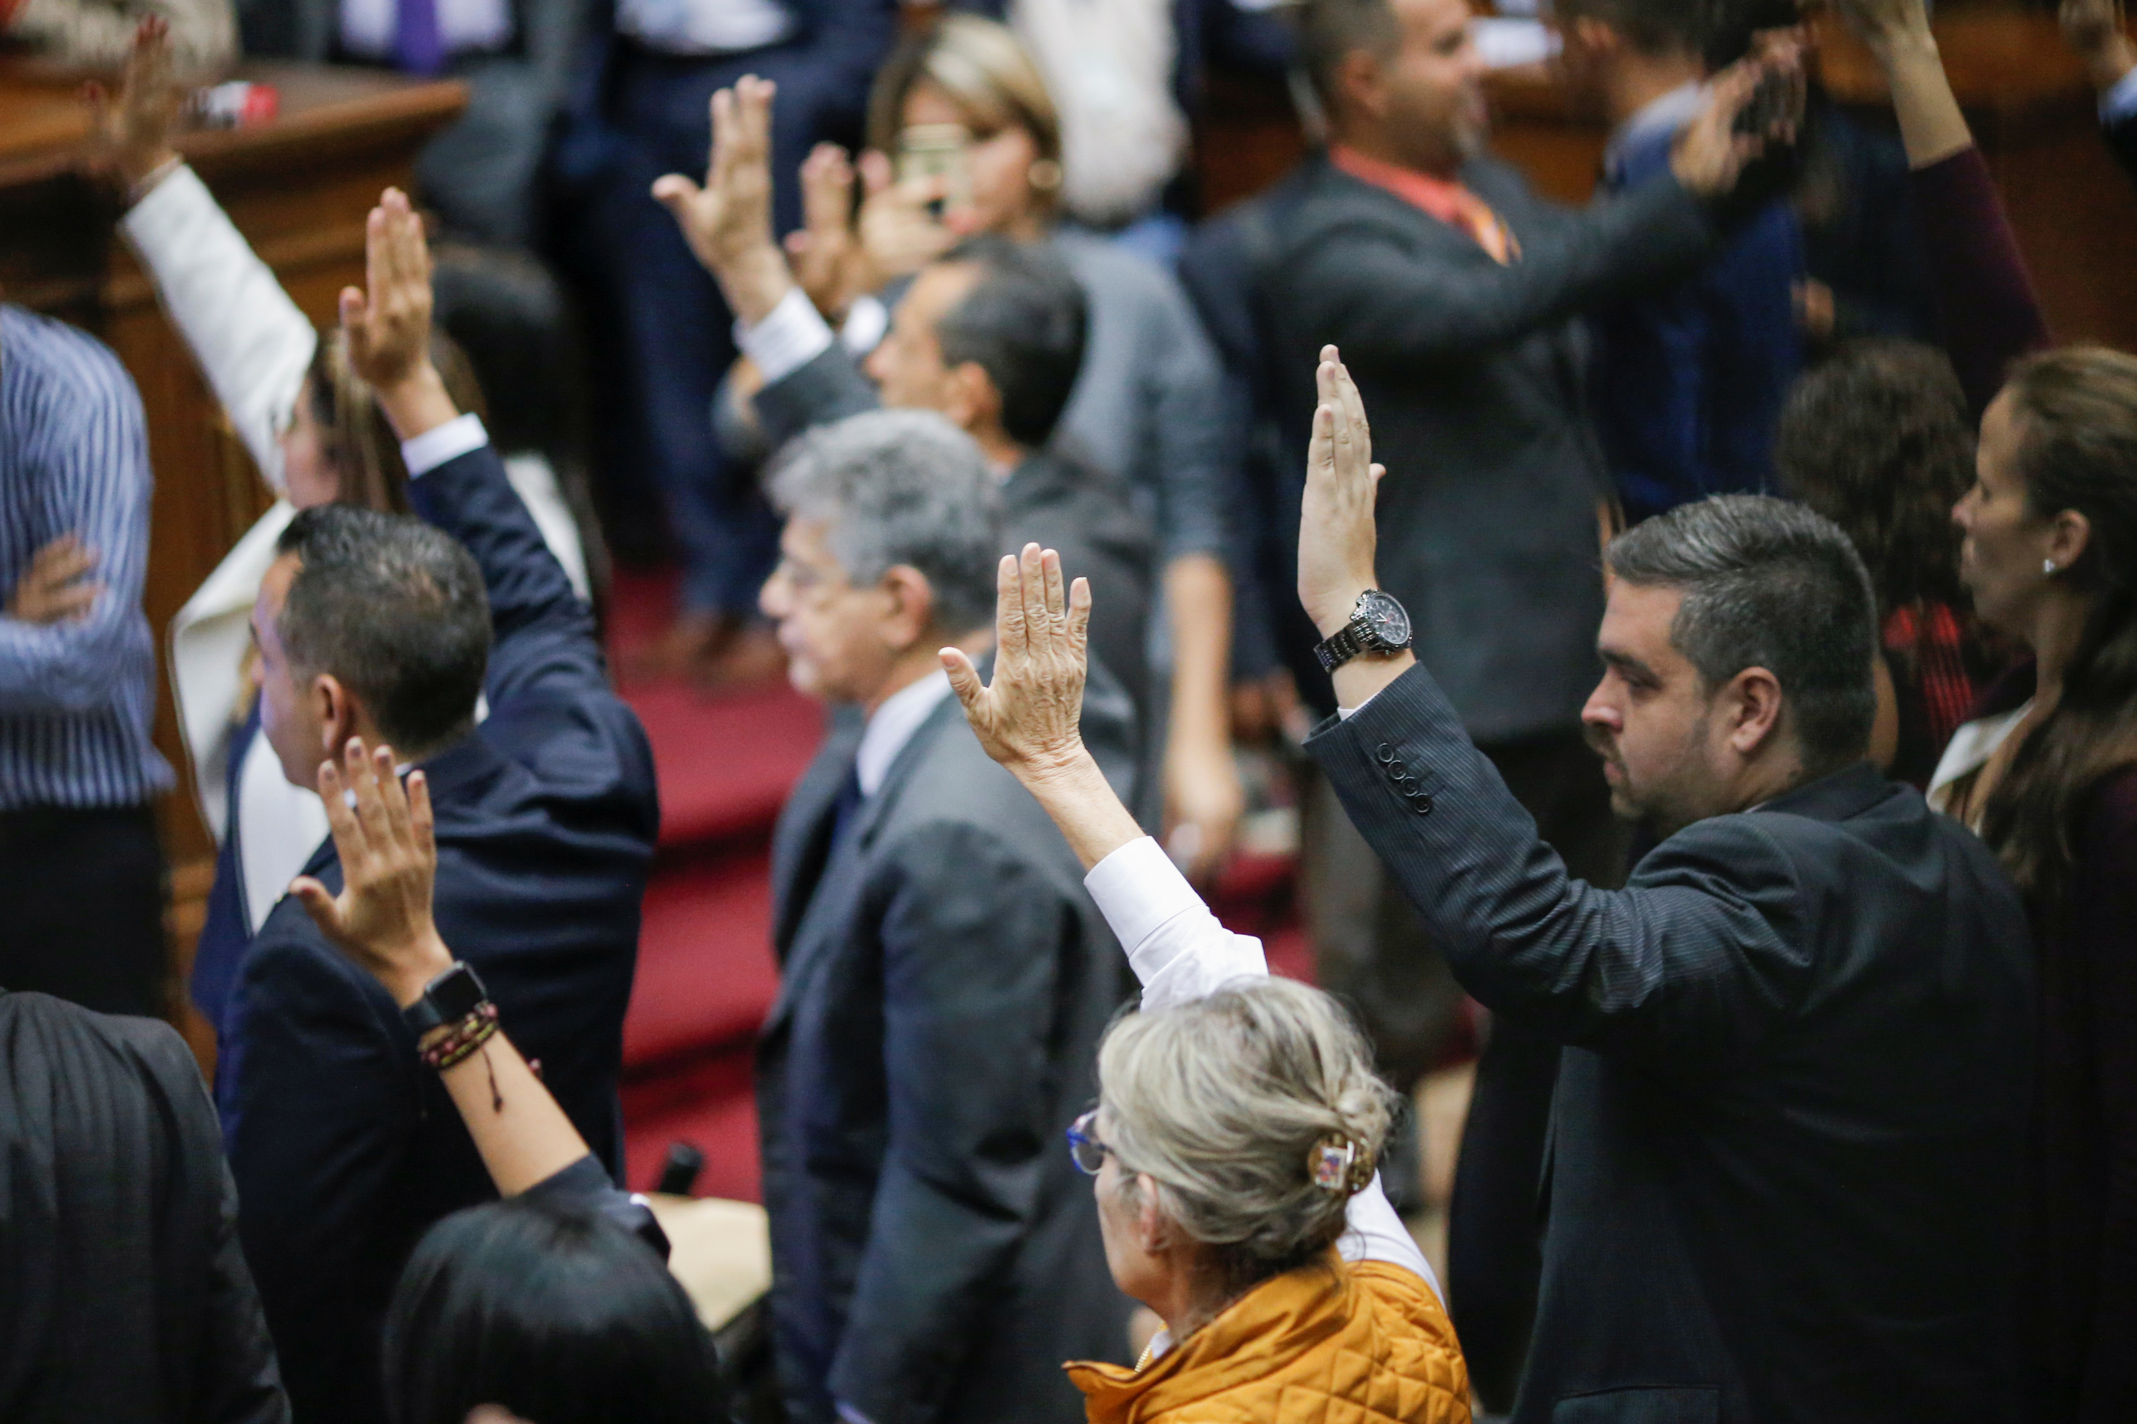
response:
{"label": "dark pinstriped suit jacket of the bearded man with wristwatch", "polygon": [[1526,1424],[2009,1420],[2032,956],[1979,839],[1859,764],[1558,856],[1423,668],[1308,751],[1558,1076]]}

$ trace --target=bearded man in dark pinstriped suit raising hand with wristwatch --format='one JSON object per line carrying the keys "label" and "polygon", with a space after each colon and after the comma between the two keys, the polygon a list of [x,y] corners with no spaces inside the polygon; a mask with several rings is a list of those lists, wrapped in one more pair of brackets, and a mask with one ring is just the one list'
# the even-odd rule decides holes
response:
{"label": "bearded man in dark pinstriped suit raising hand with wristwatch", "polygon": [[1876,615],[1846,536],[1718,495],[1611,542],[1581,715],[1660,843],[1596,890],[1402,621],[1346,632],[1376,602],[1374,476],[1327,354],[1299,598],[1342,634],[1344,717],[1308,751],[1462,984],[1564,1044],[1515,1420],[2013,1418],[2026,914],[1866,762]]}

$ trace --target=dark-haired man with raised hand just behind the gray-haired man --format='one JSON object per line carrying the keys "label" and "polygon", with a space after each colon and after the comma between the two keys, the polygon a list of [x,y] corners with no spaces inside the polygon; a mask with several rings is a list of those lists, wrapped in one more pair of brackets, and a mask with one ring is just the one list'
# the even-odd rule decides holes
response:
{"label": "dark-haired man with raised hand just behind the gray-haired man", "polygon": [[714,135],[705,186],[665,192],[765,382],[752,408],[769,448],[878,406],[949,416],[1002,480],[1002,551],[1058,549],[1062,568],[1120,604],[1094,613],[1092,653],[1141,713],[1156,542],[1126,482],[1054,440],[1083,369],[1088,310],[1075,273],[1007,237],[960,243],[912,278],[863,371],[795,284],[771,233],[771,94],[742,83],[731,113]]}

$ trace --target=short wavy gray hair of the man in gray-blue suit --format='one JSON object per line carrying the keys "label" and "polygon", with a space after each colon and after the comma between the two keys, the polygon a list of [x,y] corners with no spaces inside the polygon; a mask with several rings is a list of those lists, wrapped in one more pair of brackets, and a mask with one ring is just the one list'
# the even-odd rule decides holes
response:
{"label": "short wavy gray hair of the man in gray-blue suit", "polygon": [[771,502],[821,519],[855,585],[906,564],[927,576],[936,626],[994,623],[1002,491],[987,457],[932,410],[872,410],[795,438],[774,461]]}

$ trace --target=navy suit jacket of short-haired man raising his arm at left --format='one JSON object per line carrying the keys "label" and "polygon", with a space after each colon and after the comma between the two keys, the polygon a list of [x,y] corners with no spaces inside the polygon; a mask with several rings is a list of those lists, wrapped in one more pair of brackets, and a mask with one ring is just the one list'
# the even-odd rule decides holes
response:
{"label": "navy suit jacket of short-haired man raising his arm at left", "polygon": [[[489,717],[423,762],[438,929],[618,1176],[615,1076],[660,822],[652,749],[496,453],[447,461],[408,495],[474,553],[496,630]],[[306,871],[340,890],[331,839]],[[494,1200],[489,1174],[393,999],[297,901],[246,950],[224,1027],[216,1095],[291,1401],[306,1424],[374,1424],[402,1262],[434,1221]]]}

